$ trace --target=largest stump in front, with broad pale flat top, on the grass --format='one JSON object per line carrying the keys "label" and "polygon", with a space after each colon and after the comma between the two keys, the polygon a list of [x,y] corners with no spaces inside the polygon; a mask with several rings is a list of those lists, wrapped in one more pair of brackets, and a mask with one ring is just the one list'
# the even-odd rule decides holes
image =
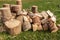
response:
{"label": "largest stump in front, with broad pale flat top, on the grass", "polygon": [[11,19],[5,22],[6,30],[11,35],[16,35],[21,32],[21,23],[19,20]]}

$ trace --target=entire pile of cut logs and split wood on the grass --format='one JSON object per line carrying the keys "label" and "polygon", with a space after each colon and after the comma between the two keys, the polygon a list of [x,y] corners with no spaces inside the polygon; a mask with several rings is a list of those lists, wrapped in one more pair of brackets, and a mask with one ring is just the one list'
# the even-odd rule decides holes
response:
{"label": "entire pile of cut logs and split wood on the grass", "polygon": [[31,10],[23,9],[21,0],[16,5],[4,4],[0,8],[2,26],[0,32],[8,32],[11,35],[20,34],[22,31],[49,30],[57,32],[60,25],[56,25],[56,16],[50,11],[38,12],[38,6],[33,5]]}

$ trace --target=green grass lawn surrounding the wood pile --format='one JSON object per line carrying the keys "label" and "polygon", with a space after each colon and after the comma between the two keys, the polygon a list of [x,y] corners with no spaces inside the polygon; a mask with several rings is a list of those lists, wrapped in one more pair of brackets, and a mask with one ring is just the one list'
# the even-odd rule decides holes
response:
{"label": "green grass lawn surrounding the wood pile", "polygon": [[[2,4],[10,3],[16,4],[15,1],[0,1],[0,7]],[[23,0],[23,8],[31,8],[32,5],[37,5],[39,12],[51,10],[57,17],[57,24],[60,23],[60,0]],[[56,33],[50,33],[49,31],[27,31],[13,37],[5,32],[0,33],[0,40],[60,40],[60,30]]]}

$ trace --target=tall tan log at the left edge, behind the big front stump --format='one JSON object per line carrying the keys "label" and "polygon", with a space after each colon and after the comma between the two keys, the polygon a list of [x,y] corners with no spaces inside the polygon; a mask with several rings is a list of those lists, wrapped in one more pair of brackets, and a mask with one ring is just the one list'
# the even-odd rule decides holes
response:
{"label": "tall tan log at the left edge, behind the big front stump", "polygon": [[8,20],[10,20],[12,18],[12,14],[11,14],[9,8],[0,8],[0,11],[2,13],[2,20],[4,22],[8,21]]}

